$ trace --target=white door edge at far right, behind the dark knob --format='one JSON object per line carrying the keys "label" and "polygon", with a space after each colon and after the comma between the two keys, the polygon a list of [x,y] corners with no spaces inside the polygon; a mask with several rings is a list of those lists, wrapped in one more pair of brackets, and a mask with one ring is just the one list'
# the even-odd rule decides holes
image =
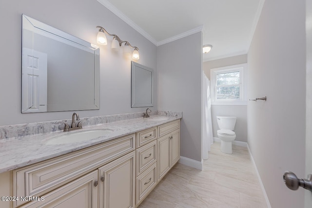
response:
{"label": "white door edge at far right, behind the dark knob", "polygon": [[[312,0],[306,0],[306,175],[312,174]],[[312,192],[305,191],[305,208],[312,208]]]}

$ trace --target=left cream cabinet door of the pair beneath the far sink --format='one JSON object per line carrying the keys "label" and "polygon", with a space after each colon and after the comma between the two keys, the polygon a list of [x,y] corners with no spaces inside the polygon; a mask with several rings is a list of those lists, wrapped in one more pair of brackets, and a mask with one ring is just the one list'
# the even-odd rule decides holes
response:
{"label": "left cream cabinet door of the pair beneath the far sink", "polygon": [[158,181],[170,170],[170,138],[171,135],[168,134],[157,139]]}

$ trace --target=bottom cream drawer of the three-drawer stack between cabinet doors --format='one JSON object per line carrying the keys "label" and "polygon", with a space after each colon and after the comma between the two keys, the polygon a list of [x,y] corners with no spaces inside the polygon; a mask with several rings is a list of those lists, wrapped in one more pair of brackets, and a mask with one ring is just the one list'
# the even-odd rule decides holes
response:
{"label": "bottom cream drawer of the three-drawer stack between cabinet doors", "polygon": [[140,176],[137,177],[136,183],[136,205],[143,201],[143,199],[151,192],[156,186],[156,163],[150,168],[145,170]]}

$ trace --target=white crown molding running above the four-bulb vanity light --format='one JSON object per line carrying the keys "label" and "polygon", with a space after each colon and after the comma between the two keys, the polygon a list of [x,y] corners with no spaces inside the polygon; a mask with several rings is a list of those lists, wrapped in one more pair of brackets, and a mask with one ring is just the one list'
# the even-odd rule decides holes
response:
{"label": "white crown molding running above the four-bulb vanity light", "polygon": [[103,6],[105,6],[107,9],[109,9],[111,12],[113,12],[118,18],[122,19],[127,24],[129,24],[133,29],[135,29],[137,32],[139,32],[146,39],[151,41],[154,45],[157,45],[157,41],[152,36],[150,36],[141,27],[139,27],[131,19],[129,19],[127,16],[125,16],[122,12],[120,12],[120,10],[117,9],[113,4],[111,4],[111,2],[109,2],[108,0],[98,0],[98,2],[101,3]]}

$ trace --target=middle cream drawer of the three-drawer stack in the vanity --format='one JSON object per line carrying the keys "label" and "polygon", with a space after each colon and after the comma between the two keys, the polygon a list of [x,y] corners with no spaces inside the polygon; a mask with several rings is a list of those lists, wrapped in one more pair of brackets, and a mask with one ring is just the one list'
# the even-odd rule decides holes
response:
{"label": "middle cream drawer of the three-drawer stack in the vanity", "polygon": [[157,140],[137,149],[137,176],[156,162]]}

